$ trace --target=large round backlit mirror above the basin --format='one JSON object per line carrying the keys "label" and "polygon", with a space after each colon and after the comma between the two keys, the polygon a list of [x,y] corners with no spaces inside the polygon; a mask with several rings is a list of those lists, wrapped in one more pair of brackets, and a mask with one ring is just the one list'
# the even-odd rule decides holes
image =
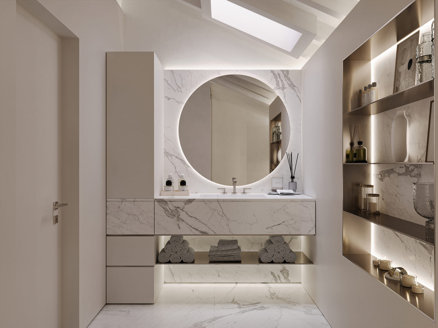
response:
{"label": "large round backlit mirror above the basin", "polygon": [[[273,119],[282,125],[282,140],[276,143]],[[270,87],[252,77],[225,75],[202,84],[187,100],[180,116],[180,144],[187,161],[205,178],[230,185],[235,177],[238,185],[247,185],[278,165],[279,148],[283,158],[289,126],[286,108]]]}

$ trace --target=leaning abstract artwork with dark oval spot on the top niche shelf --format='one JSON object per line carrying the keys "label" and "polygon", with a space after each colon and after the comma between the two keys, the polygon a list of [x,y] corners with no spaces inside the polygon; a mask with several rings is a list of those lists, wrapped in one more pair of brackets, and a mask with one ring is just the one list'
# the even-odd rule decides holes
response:
{"label": "leaning abstract artwork with dark oval spot on the top niche shelf", "polygon": [[420,31],[397,45],[396,72],[394,74],[394,93],[415,85],[417,67],[417,45]]}

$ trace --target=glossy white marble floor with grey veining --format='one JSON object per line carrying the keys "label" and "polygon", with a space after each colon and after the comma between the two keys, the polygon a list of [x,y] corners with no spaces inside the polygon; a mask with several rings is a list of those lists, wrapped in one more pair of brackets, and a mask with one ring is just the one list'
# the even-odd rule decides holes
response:
{"label": "glossy white marble floor with grey veining", "polygon": [[105,305],[88,328],[330,327],[301,284],[164,284],[155,304]]}

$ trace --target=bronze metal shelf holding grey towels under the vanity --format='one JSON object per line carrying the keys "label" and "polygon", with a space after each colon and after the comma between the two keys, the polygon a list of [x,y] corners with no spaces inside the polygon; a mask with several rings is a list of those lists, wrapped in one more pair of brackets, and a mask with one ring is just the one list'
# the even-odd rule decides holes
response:
{"label": "bronze metal shelf holding grey towels under the vanity", "polygon": [[184,262],[180,262],[180,263],[171,263],[171,262],[167,262],[167,263],[159,263],[157,262],[157,264],[171,264],[171,265],[180,265],[180,264],[184,264],[184,265],[193,265],[193,264],[250,264],[250,265],[254,265],[254,264],[262,264],[262,265],[272,265],[272,264],[281,264],[281,265],[300,265],[300,264],[313,264],[313,262],[301,251],[296,251],[294,252],[297,255],[297,260],[293,263],[287,263],[287,262],[282,262],[282,263],[274,263],[274,262],[269,262],[269,263],[263,263],[260,261],[260,259],[258,258],[258,252],[256,251],[243,251],[242,252],[242,261],[234,261],[234,262],[210,262],[208,259],[208,251],[195,251],[194,252],[194,262],[191,263],[184,263]]}

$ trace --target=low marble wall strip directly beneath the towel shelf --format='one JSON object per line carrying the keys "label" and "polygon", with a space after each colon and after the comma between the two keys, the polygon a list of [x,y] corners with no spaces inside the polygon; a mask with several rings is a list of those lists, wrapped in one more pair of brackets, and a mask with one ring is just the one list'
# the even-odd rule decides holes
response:
{"label": "low marble wall strip directly beneath the towel shelf", "polygon": [[165,283],[300,283],[296,264],[164,265]]}

